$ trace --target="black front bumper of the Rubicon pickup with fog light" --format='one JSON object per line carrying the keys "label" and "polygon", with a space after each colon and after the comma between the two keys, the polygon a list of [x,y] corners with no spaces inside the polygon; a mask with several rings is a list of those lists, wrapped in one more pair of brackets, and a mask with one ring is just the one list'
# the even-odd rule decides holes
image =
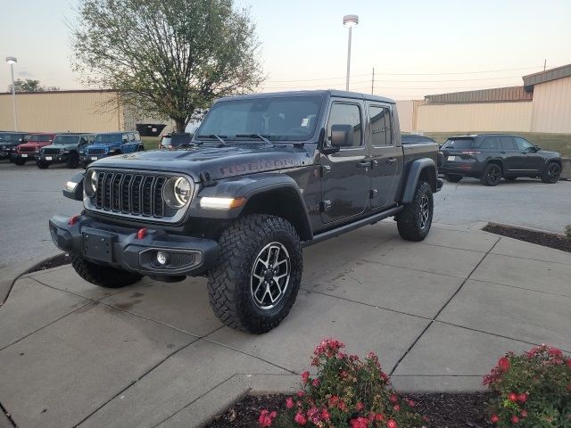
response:
{"label": "black front bumper of the Rubicon pickup with fog light", "polygon": [[[211,239],[170,235],[151,228],[143,239],[137,239],[138,229],[109,225],[86,216],[79,217],[73,225],[68,220],[61,216],[49,220],[55,245],[97,264],[144,276],[198,276],[218,260],[219,246]],[[157,251],[167,253],[166,265],[158,264]]]}

